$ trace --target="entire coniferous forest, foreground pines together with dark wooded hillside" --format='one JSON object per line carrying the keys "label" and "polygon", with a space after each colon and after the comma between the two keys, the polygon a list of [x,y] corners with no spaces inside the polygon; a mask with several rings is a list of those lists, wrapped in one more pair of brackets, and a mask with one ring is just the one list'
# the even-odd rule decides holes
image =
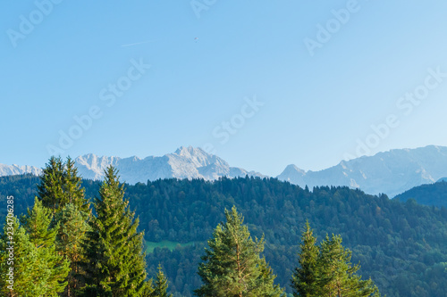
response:
{"label": "entire coniferous forest, foreground pines together with dark wooded hillside", "polygon": [[[0,177],[2,295],[447,292],[443,207],[274,178],[121,182],[114,168],[103,181],[82,180],[59,158],[41,177]],[[15,217],[6,220],[8,196]],[[11,228],[21,243],[13,292],[5,282]]]}

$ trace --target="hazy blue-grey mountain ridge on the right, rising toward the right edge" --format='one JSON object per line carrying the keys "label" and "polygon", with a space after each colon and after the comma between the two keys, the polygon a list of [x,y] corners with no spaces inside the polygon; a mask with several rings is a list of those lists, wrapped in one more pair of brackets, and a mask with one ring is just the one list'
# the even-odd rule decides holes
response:
{"label": "hazy blue-grey mountain ridge on the right, rising toward the right edge", "polygon": [[429,145],[392,150],[341,161],[321,171],[304,171],[289,165],[278,176],[299,186],[350,186],[369,194],[396,194],[447,176],[447,147]]}

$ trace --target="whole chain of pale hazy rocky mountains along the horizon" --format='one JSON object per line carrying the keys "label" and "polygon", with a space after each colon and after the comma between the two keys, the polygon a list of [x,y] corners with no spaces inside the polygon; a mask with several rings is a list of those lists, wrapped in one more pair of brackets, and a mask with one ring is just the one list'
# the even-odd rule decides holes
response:
{"label": "whole chain of pale hazy rocky mountains along the horizon", "polygon": [[[200,148],[181,147],[175,153],[161,157],[98,157],[86,154],[75,159],[80,175],[88,179],[102,179],[104,169],[114,165],[123,181],[129,184],[146,183],[158,178],[266,177],[230,165],[223,159]],[[0,164],[0,176],[32,173],[41,169],[32,166]],[[374,156],[341,161],[338,165],[320,171],[302,170],[289,165],[277,178],[301,187],[350,186],[368,194],[388,194],[393,197],[414,186],[432,184],[447,177],[447,147],[429,145],[417,149],[392,150]]]}

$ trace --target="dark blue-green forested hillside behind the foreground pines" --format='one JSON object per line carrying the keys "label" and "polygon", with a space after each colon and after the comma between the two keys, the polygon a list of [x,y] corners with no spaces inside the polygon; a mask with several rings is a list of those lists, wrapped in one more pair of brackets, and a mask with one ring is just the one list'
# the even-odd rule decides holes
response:
{"label": "dark blue-green forested hillside behind the foreground pines", "polygon": [[[9,179],[6,179],[9,178]],[[32,205],[36,177],[0,178],[1,202],[6,194],[19,204]],[[86,197],[97,195],[99,183],[83,181]],[[290,290],[293,268],[298,265],[300,235],[308,219],[318,240],[342,235],[361,262],[359,273],[371,276],[387,296],[445,296],[447,292],[447,210],[397,202],[347,187],[317,187],[309,191],[274,178],[164,179],[125,186],[131,209],[148,242],[169,240],[191,243],[172,251],[156,248],[148,253],[149,275],[161,263],[176,296],[190,296],[200,285],[199,257],[223,209],[232,205],[245,217],[251,235],[266,235],[266,260]]]}

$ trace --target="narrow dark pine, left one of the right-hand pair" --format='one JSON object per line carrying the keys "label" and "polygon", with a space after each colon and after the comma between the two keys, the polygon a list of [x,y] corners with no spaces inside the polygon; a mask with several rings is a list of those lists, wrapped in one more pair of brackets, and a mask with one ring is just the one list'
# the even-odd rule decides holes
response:
{"label": "narrow dark pine, left one of the right-hand pair", "polygon": [[295,297],[320,296],[316,267],[319,249],[316,246],[316,237],[313,235],[308,221],[306,222],[306,229],[301,235],[299,249],[299,267],[295,268],[291,279],[291,287],[294,291],[293,295]]}

